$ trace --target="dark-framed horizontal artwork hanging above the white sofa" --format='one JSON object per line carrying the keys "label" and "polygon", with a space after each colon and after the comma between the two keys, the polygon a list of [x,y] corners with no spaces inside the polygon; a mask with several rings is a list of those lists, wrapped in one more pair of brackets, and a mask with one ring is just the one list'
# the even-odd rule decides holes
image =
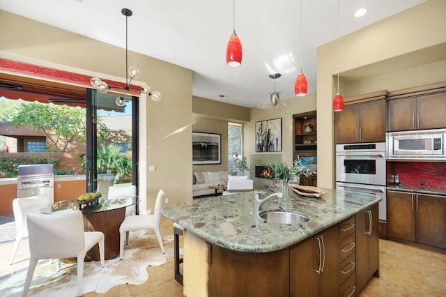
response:
{"label": "dark-framed horizontal artwork hanging above the white sofa", "polygon": [[222,135],[192,132],[192,164],[221,164]]}

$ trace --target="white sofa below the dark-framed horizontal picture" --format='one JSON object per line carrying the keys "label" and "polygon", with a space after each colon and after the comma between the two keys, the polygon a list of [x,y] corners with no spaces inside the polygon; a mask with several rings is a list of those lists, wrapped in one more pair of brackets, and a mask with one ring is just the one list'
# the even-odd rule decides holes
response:
{"label": "white sofa below the dark-framed horizontal picture", "polygon": [[[235,175],[236,172],[194,172],[194,185],[192,185],[192,196],[215,194],[215,189],[209,188],[210,185],[221,185],[227,183],[229,175]],[[218,193],[222,192],[217,190]]]}

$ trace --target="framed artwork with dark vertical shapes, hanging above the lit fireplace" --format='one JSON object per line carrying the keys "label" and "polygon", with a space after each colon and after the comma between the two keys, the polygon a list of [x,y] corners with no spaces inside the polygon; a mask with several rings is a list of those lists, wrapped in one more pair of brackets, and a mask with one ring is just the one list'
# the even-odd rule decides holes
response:
{"label": "framed artwork with dark vertical shapes, hanging above the lit fireplace", "polygon": [[256,122],[256,152],[282,151],[282,118]]}

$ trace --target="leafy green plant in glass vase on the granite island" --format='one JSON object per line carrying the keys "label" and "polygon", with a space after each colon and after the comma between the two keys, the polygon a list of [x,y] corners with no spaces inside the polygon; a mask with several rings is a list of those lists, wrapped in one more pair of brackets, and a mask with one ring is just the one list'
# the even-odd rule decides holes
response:
{"label": "leafy green plant in glass vase on the granite island", "polygon": [[302,164],[299,157],[298,160],[294,160],[291,166],[286,165],[285,162],[273,162],[268,165],[268,169],[270,169],[272,176],[280,182],[280,188],[285,198],[289,196],[289,186],[288,183],[293,181],[293,179],[297,179],[299,183],[300,176],[312,176],[315,172],[309,171],[308,168],[305,168],[305,165]]}

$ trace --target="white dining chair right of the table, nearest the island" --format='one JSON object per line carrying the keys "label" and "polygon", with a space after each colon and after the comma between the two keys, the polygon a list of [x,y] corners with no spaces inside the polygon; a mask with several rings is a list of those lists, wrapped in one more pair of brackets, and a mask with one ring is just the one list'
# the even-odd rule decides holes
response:
{"label": "white dining chair right of the table, nearest the island", "polygon": [[160,248],[164,254],[164,245],[162,244],[162,230],[161,230],[161,208],[164,203],[164,191],[160,190],[156,197],[155,207],[153,208],[153,215],[130,215],[124,219],[119,227],[119,259],[123,259],[124,254],[124,237],[128,244],[128,231],[135,231],[141,229],[152,229],[160,243]]}

